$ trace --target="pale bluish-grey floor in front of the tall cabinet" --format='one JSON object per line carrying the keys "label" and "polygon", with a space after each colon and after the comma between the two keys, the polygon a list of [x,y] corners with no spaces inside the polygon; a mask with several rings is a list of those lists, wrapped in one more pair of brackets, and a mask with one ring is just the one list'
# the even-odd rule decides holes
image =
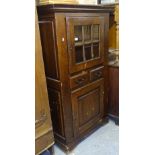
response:
{"label": "pale bluish-grey floor in front of the tall cabinet", "polygon": [[[109,121],[88,138],[83,140],[67,155],[118,155],[119,127]],[[54,145],[54,155],[66,155],[57,145]]]}

